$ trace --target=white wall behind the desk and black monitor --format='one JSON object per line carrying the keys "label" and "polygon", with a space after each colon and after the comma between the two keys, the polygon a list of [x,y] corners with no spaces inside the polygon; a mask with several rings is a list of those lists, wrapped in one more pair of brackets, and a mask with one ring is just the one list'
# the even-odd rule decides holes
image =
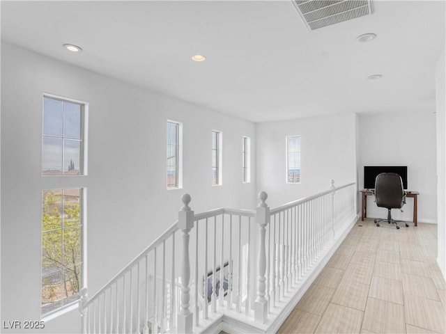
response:
{"label": "white wall behind the desk and black monitor", "polygon": [[[420,192],[418,221],[437,223],[434,110],[360,116],[360,189],[364,166],[407,166],[408,190]],[[403,211],[392,210],[392,217],[412,221],[412,198]],[[387,218],[387,209],[376,207],[374,197],[367,196],[367,216]]]}

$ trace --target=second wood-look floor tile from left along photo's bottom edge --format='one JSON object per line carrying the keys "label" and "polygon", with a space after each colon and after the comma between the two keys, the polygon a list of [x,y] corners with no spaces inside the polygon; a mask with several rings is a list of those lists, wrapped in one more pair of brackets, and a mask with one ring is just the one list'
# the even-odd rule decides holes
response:
{"label": "second wood-look floor tile from left along photo's bottom edge", "polygon": [[363,312],[330,303],[314,333],[359,333]]}

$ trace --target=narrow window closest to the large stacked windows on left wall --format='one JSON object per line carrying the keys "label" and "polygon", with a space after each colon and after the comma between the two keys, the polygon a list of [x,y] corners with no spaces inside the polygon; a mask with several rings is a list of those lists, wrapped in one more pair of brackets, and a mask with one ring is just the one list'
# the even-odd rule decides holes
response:
{"label": "narrow window closest to the large stacked windows on left wall", "polygon": [[167,189],[181,188],[182,124],[167,121]]}

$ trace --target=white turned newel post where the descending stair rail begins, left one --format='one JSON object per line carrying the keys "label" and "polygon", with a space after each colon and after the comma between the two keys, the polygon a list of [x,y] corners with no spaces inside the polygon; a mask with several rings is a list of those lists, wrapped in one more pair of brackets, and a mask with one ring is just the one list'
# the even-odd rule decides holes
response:
{"label": "white turned newel post where the descending stair rail begins, left one", "polygon": [[194,227],[194,212],[190,209],[190,195],[185,193],[181,200],[183,208],[178,212],[178,228],[183,231],[183,259],[181,267],[181,309],[178,312],[178,326],[176,333],[192,333],[193,315],[190,312],[190,260],[189,260],[189,232]]}

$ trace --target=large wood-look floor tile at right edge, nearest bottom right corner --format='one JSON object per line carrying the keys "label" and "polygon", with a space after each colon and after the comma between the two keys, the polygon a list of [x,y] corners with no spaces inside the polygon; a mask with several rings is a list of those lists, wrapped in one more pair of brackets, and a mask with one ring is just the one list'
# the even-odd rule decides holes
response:
{"label": "large wood-look floor tile at right edge, nearest bottom right corner", "polygon": [[445,333],[445,307],[440,301],[404,294],[404,311],[408,324]]}

